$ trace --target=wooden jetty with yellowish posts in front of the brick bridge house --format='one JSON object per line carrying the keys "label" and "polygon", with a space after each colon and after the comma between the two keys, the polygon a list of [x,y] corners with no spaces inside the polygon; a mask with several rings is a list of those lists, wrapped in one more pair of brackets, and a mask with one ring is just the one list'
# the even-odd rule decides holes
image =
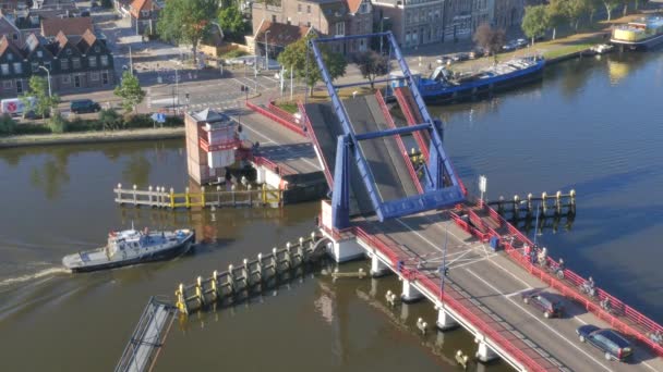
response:
{"label": "wooden jetty with yellowish posts in front of the brick bridge house", "polygon": [[171,187],[166,189],[164,186],[149,186],[146,190],[140,190],[136,185],[132,188],[122,188],[122,184],[112,190],[116,194],[116,202],[120,206],[149,207],[149,208],[224,208],[224,207],[272,207],[282,206],[282,190],[268,188],[262,185],[253,188],[251,185],[246,189],[237,189],[233,185],[230,190],[225,190],[221,186],[209,190],[201,187],[200,193],[190,191],[189,187],[184,193],[176,193]]}

